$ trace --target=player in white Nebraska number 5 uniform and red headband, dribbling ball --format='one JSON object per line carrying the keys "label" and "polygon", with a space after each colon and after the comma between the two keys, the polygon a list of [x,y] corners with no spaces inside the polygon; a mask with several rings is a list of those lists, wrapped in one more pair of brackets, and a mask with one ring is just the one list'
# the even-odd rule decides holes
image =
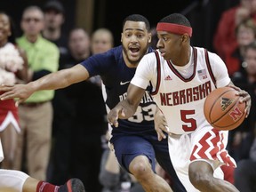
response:
{"label": "player in white Nebraska number 5 uniform and red headband, dribbling ball", "polygon": [[132,116],[151,84],[151,94],[166,118],[162,130],[156,130],[158,139],[169,133],[170,158],[186,190],[238,191],[232,185],[236,162],[226,150],[228,131],[207,123],[203,107],[212,90],[232,86],[243,97],[240,102],[246,103],[248,116],[250,95],[232,84],[218,55],[190,46],[192,28],[183,15],[165,17],[156,30],[158,50],[140,60],[126,100],[108,113],[108,122],[118,126],[118,118]]}

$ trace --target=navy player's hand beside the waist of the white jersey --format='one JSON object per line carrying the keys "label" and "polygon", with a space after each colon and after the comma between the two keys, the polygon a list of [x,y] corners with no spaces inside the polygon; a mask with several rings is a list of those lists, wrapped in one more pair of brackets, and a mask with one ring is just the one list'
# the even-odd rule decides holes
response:
{"label": "navy player's hand beside the waist of the white jersey", "polygon": [[163,139],[166,139],[165,132],[169,134],[169,129],[168,129],[164,114],[160,110],[156,112],[154,123],[155,123],[155,130],[157,132],[158,140],[161,141]]}

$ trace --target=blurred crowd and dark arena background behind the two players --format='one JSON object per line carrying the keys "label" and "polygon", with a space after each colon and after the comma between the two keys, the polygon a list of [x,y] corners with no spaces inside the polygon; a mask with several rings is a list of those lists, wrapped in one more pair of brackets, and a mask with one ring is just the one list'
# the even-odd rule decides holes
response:
{"label": "blurred crowd and dark arena background behind the two players", "polygon": [[[16,43],[9,39],[10,36],[14,38],[14,31],[3,37],[4,43],[0,38],[0,52],[6,50],[8,38],[8,43],[17,44],[28,56],[24,59],[28,76],[19,76],[18,83],[28,83],[53,71],[70,68],[92,54],[119,45],[122,22],[129,14],[138,13],[148,18],[155,36],[152,46],[156,48],[156,23],[168,14],[180,12],[191,22],[191,44],[218,53],[225,61],[232,81],[251,94],[251,115],[230,132],[228,151],[238,163],[236,187],[243,188],[242,192],[256,191],[255,0],[52,1],[4,0],[0,3],[0,35],[9,33],[6,26],[10,23],[4,20],[7,13],[14,21],[17,39]],[[38,39],[40,45],[36,42]],[[11,51],[13,49],[12,46]],[[27,103],[20,104],[21,131],[17,124],[14,127],[17,132],[12,128],[12,132],[7,132],[9,125],[1,127],[0,124],[5,156],[1,167],[22,170],[39,180],[58,185],[70,177],[78,177],[83,180],[87,192],[118,192],[127,185],[136,188],[131,191],[140,192],[142,189],[136,186],[136,180],[120,170],[114,154],[109,151],[100,84],[100,78],[96,76],[54,92],[54,98],[53,91],[40,92]],[[4,111],[4,105],[11,106],[0,102],[2,117],[9,114],[8,110]],[[18,112],[13,109],[12,115],[17,118]],[[3,123],[4,120],[0,120]],[[111,168],[106,165],[109,161]],[[111,172],[114,170],[112,165],[117,167],[116,172]],[[108,177],[106,170],[116,176],[117,187],[108,188],[109,184],[115,183],[104,182],[104,177]],[[168,176],[164,177],[170,180]],[[244,186],[250,188],[247,190]]]}

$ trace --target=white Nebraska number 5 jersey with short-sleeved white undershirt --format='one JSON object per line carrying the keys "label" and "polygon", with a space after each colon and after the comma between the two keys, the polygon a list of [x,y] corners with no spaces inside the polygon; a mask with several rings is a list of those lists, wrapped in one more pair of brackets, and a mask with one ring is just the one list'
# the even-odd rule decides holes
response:
{"label": "white Nebraska number 5 jersey with short-sleeved white undershirt", "polygon": [[166,61],[161,53],[148,53],[140,60],[132,84],[146,89],[152,84],[152,95],[166,118],[169,131],[175,134],[194,132],[211,126],[204,117],[204,100],[216,89],[229,84],[223,60],[204,48],[191,47],[190,60],[184,67]]}

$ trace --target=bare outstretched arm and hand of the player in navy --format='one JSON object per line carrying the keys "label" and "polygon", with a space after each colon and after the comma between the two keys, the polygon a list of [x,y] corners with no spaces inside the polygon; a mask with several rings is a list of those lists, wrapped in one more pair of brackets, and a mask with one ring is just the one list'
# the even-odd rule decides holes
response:
{"label": "bare outstretched arm and hand of the player in navy", "polygon": [[89,73],[82,65],[63,69],[47,76],[43,76],[28,84],[0,85],[0,100],[18,98],[17,104],[28,99],[36,91],[56,90],[67,87],[70,84],[81,82],[89,77]]}

